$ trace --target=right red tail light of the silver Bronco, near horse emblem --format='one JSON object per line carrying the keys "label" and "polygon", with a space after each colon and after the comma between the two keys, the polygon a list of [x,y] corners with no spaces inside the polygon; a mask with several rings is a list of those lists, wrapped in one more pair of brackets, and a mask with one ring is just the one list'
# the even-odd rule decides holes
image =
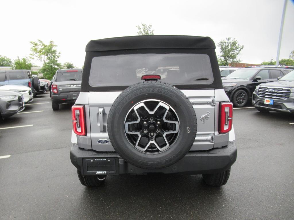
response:
{"label": "right red tail light of the silver Bronco, near horse emblem", "polygon": [[220,134],[228,133],[232,129],[233,122],[233,104],[231,102],[220,103],[220,122],[219,130]]}

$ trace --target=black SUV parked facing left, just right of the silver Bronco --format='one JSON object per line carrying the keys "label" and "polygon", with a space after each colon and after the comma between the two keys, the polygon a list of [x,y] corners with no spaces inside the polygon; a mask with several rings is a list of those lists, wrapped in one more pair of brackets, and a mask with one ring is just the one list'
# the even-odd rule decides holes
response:
{"label": "black SUV parked facing left, just right of the silver Bronco", "polygon": [[243,107],[252,99],[257,85],[264,82],[277,81],[290,72],[288,68],[277,67],[245,67],[232,72],[223,78],[223,89],[236,107]]}

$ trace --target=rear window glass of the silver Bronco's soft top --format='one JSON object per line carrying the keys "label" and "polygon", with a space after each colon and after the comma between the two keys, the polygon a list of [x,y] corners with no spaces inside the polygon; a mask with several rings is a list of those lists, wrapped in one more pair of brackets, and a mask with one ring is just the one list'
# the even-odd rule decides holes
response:
{"label": "rear window glass of the silver Bronco's soft top", "polygon": [[130,54],[94,57],[89,85],[129,86],[146,74],[157,74],[173,85],[211,84],[213,73],[206,54]]}

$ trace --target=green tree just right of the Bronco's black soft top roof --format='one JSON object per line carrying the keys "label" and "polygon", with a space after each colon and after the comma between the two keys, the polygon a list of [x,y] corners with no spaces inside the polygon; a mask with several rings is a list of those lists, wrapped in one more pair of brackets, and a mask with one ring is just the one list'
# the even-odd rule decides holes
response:
{"label": "green tree just right of the Bronco's black soft top roof", "polygon": [[218,42],[220,48],[220,56],[218,57],[218,64],[220,66],[228,66],[229,63],[240,62],[238,56],[243,50],[244,46],[238,44],[235,38],[226,38]]}

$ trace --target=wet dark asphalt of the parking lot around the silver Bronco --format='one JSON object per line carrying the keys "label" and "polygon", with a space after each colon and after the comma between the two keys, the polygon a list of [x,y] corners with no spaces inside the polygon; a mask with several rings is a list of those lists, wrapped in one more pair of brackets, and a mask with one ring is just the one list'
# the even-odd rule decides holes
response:
{"label": "wet dark asphalt of the parking lot around the silver Bronco", "polygon": [[71,105],[53,111],[48,92],[30,104],[0,121],[0,219],[294,218],[293,115],[234,109],[238,156],[223,187],[156,174],[91,189],[69,159]]}

